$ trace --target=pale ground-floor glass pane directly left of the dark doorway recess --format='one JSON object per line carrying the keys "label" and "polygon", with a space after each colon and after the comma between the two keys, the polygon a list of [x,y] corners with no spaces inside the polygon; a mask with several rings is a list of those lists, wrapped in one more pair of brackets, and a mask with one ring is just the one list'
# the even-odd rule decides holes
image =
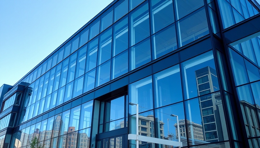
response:
{"label": "pale ground-floor glass pane directly left of the dark doorway recess", "polygon": [[81,105],[80,128],[84,129],[91,126],[93,101]]}

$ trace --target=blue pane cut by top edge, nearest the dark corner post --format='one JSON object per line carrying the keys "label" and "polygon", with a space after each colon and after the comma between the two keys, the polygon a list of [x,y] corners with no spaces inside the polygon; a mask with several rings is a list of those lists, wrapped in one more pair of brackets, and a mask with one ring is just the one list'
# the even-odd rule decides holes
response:
{"label": "blue pane cut by top edge, nearest the dark corner post", "polygon": [[194,10],[200,8],[204,5],[203,0],[187,0],[187,1],[179,1],[174,0],[176,2],[176,11],[177,11],[177,20],[180,18],[183,18],[183,16],[186,16],[193,12]]}

